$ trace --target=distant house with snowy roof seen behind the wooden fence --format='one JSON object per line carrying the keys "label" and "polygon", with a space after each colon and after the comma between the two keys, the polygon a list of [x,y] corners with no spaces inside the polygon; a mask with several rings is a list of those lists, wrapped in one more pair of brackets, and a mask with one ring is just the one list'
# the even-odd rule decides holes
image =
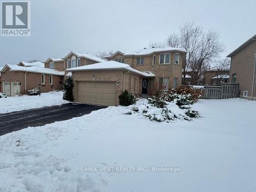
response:
{"label": "distant house with snowy roof seen behind the wooden fence", "polygon": [[222,82],[228,82],[229,70],[211,68],[204,72],[203,84],[218,85]]}

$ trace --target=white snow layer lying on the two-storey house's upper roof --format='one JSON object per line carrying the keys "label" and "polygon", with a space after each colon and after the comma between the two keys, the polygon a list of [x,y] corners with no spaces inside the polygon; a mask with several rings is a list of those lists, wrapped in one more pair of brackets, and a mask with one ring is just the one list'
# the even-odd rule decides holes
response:
{"label": "white snow layer lying on the two-storey house's upper roof", "polygon": [[166,51],[181,51],[186,52],[183,48],[172,48],[172,47],[166,47],[166,48],[149,48],[149,49],[141,49],[133,52],[127,52],[124,53],[124,55],[148,55],[153,54],[157,52],[166,52]]}

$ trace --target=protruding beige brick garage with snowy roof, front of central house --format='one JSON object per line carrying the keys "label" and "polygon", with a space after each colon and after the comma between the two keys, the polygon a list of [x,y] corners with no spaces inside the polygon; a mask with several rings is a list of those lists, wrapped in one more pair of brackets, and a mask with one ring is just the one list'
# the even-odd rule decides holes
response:
{"label": "protruding beige brick garage with snowy roof, front of central house", "polygon": [[105,106],[118,105],[118,96],[124,90],[143,93],[147,88],[143,79],[156,77],[151,72],[141,72],[117,61],[104,61],[66,71],[72,72],[75,102]]}

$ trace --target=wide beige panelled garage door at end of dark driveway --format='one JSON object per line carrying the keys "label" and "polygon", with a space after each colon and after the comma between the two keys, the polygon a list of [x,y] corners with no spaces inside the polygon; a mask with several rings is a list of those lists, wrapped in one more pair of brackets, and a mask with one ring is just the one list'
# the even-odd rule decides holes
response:
{"label": "wide beige panelled garage door at end of dark driveway", "polygon": [[115,105],[115,82],[78,81],[76,83],[77,102],[103,106]]}

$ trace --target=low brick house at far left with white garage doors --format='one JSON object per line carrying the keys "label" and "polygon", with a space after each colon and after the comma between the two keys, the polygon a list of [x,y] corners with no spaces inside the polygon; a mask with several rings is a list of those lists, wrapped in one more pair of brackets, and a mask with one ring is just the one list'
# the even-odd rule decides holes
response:
{"label": "low brick house at far left with white garage doors", "polygon": [[38,67],[33,63],[29,67],[20,65],[5,65],[0,71],[3,93],[7,96],[26,94],[28,90],[38,88],[39,84],[41,92],[62,89],[64,72]]}

